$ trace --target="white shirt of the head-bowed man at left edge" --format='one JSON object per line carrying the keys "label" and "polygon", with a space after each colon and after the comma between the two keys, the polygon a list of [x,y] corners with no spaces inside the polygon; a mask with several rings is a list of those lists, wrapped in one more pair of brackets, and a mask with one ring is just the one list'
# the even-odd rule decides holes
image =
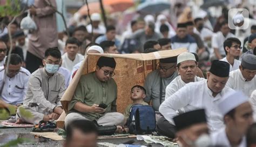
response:
{"label": "white shirt of the head-bowed man at left edge", "polygon": [[21,104],[26,96],[30,72],[21,67],[13,78],[6,75],[4,66],[0,67],[0,91],[2,100],[10,104]]}

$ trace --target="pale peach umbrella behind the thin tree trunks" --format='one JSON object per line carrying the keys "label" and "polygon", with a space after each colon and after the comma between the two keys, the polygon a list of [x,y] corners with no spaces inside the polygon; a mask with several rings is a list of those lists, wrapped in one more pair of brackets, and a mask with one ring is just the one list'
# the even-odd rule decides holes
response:
{"label": "pale peach umbrella behind the thin tree trunks", "polygon": [[[88,6],[89,6],[89,10],[90,10],[90,15],[92,13],[101,13],[99,2],[89,3]],[[80,13],[80,15],[88,15],[87,10],[88,10],[87,5],[83,5],[78,10],[78,13]],[[105,10],[106,13],[112,13],[113,12],[113,8],[110,5],[104,5],[104,10]]]}

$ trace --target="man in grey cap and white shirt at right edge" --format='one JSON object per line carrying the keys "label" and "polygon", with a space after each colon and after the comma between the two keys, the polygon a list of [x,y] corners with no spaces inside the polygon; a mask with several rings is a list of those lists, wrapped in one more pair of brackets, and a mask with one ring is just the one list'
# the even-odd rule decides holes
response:
{"label": "man in grey cap and white shirt at right edge", "polygon": [[244,54],[239,69],[230,72],[227,86],[250,97],[256,89],[256,55]]}

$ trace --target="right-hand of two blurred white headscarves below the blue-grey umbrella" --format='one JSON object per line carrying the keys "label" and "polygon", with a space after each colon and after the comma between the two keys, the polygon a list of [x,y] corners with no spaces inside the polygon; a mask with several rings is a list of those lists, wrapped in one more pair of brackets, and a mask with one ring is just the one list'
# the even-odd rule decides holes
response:
{"label": "right-hand of two blurred white headscarves below the blue-grey umbrella", "polygon": [[157,16],[157,22],[156,22],[156,27],[154,28],[154,31],[157,33],[160,33],[160,26],[161,26],[161,20],[165,20],[165,25],[167,25],[169,27],[169,38],[173,37],[176,35],[175,30],[173,29],[173,27],[171,26],[171,24],[169,24],[169,22],[167,21],[167,18],[165,15],[158,15]]}

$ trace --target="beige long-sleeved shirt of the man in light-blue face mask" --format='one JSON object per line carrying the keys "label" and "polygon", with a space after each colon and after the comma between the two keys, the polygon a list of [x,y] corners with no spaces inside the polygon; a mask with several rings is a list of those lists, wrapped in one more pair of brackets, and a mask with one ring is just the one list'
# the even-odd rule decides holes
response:
{"label": "beige long-sleeved shirt of the man in light-blue face mask", "polygon": [[23,107],[30,108],[30,103],[35,103],[44,114],[52,113],[56,106],[62,106],[60,99],[65,90],[65,79],[62,74],[56,72],[49,76],[45,68],[39,68],[29,78]]}

